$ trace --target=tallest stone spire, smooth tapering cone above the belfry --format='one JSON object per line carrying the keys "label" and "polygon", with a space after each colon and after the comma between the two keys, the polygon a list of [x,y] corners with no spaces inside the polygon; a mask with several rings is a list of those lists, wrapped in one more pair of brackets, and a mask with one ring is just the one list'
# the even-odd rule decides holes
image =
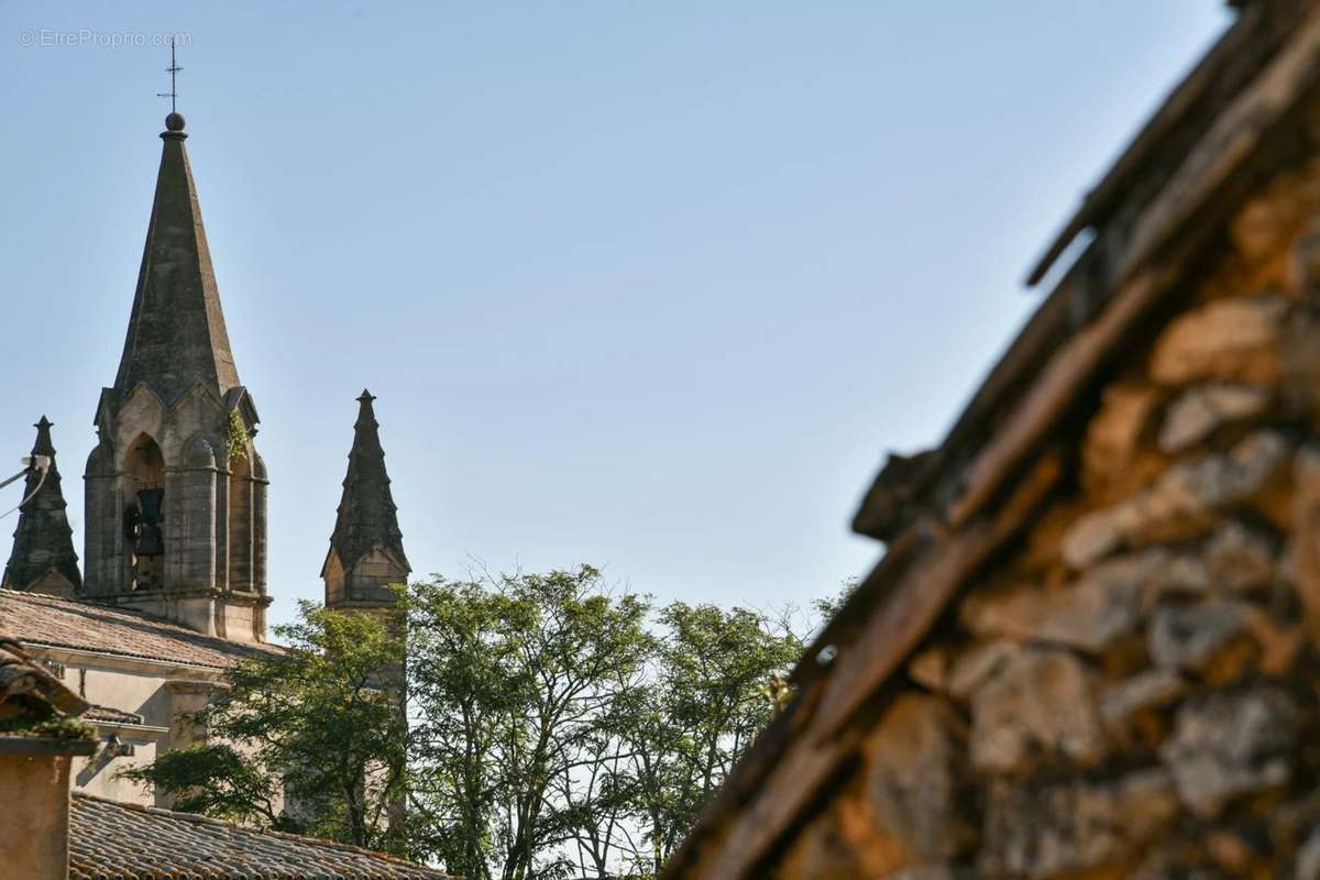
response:
{"label": "tallest stone spire, smooth tapering cone above the belfry", "polygon": [[218,397],[239,384],[220,311],[183,117],[170,113],[137,293],[115,377],[116,402],[139,383],[172,405],[197,383]]}

